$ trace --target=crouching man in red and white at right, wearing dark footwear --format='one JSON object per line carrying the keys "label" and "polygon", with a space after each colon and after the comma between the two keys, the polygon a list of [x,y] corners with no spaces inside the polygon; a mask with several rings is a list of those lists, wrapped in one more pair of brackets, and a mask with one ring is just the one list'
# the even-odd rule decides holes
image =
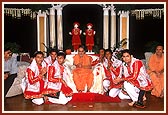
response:
{"label": "crouching man in red and white at right, wearing dark footwear", "polygon": [[122,51],[122,59],[124,78],[118,78],[116,82],[124,81],[124,90],[127,92],[127,95],[120,92],[119,97],[121,99],[131,99],[130,106],[144,108],[143,97],[145,91],[152,89],[151,79],[142,61],[134,58],[128,49]]}

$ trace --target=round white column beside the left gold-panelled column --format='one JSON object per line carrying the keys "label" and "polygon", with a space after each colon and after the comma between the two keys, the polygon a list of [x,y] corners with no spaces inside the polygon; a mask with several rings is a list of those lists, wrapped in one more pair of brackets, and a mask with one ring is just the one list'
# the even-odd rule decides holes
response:
{"label": "round white column beside the left gold-panelled column", "polygon": [[55,9],[50,8],[50,47],[56,46],[55,40]]}

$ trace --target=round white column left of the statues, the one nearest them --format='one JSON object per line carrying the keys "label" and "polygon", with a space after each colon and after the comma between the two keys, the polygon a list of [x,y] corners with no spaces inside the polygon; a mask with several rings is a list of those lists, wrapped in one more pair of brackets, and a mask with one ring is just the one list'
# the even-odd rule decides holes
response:
{"label": "round white column left of the statues, the one nearest them", "polygon": [[57,10],[57,47],[63,50],[62,7],[57,5],[54,8]]}

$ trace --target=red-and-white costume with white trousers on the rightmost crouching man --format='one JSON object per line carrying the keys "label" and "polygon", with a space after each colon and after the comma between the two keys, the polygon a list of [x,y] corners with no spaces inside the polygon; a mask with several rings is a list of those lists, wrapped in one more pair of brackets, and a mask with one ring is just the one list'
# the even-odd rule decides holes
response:
{"label": "red-and-white costume with white trousers on the rightmost crouching man", "polygon": [[140,89],[146,91],[151,90],[152,83],[150,77],[146,73],[142,61],[136,58],[132,57],[130,66],[123,62],[122,67],[125,77],[124,90],[129,96],[121,92],[119,97],[121,99],[132,99],[133,101],[137,101]]}

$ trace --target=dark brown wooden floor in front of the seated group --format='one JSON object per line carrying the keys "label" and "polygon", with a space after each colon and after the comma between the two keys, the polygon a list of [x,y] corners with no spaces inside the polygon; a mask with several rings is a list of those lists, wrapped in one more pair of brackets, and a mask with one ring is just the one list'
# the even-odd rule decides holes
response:
{"label": "dark brown wooden floor in front of the seated group", "polygon": [[128,106],[130,100],[121,100],[120,103],[67,103],[66,105],[43,104],[38,106],[33,104],[30,100],[25,100],[23,95],[18,95],[7,98],[3,103],[4,106],[2,106],[2,110],[4,110],[4,113],[122,113],[125,111],[130,113],[137,111],[146,113],[165,113],[164,98],[156,98],[150,95],[150,93],[147,93],[146,97],[147,100],[145,101],[145,105],[147,107],[145,109],[140,109]]}

